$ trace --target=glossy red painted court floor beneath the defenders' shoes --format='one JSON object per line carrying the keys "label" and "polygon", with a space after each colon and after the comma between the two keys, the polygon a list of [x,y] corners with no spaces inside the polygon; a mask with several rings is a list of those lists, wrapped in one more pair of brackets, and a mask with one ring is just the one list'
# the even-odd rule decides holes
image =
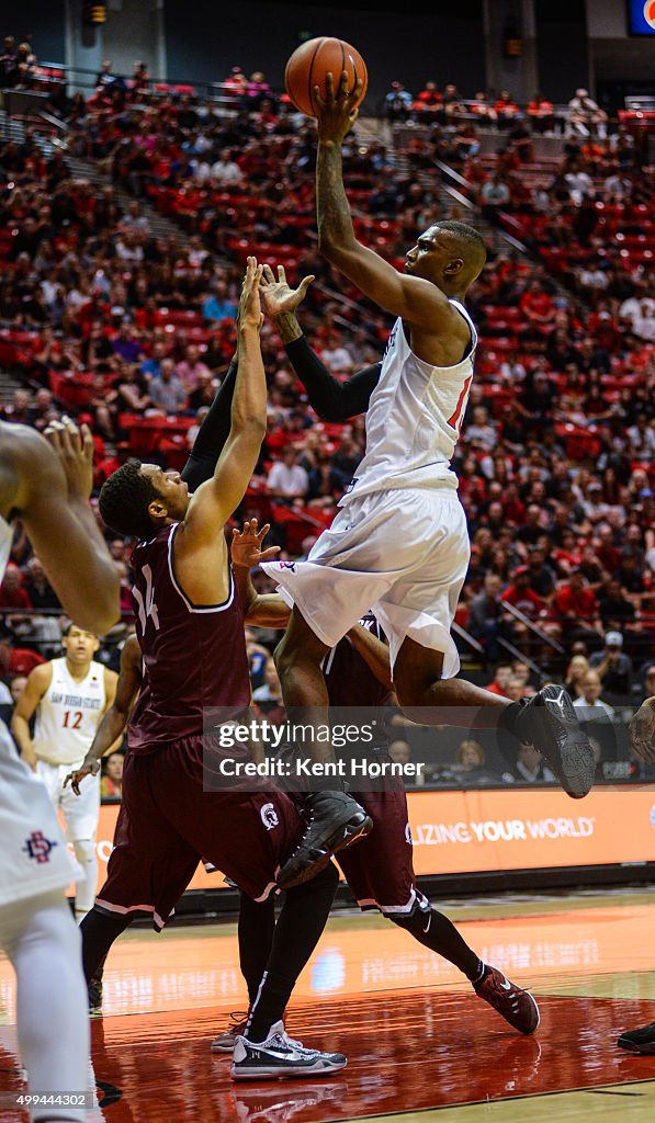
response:
{"label": "glossy red painted court floor beneath the defenders' shoes", "polygon": [[[294,1008],[292,1034],[349,1058],[324,1080],[235,1086],[229,1058],[209,1051],[226,1015],[204,1010],[94,1021],[93,1065],[122,1092],[103,1111],[108,1123],[328,1123],[655,1078],[655,1057],[615,1044],[653,1017],[652,1002],[545,997],[540,1007],[531,1038],[463,994],[382,992]],[[19,1087],[13,1058],[2,1060],[3,1090]]]}

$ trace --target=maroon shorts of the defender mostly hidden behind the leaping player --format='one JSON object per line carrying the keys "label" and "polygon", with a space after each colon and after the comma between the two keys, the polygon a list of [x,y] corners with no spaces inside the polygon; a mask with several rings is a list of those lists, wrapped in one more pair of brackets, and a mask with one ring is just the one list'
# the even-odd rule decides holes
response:
{"label": "maroon shorts of the defender mostly hidden behind the leaping player", "polygon": [[365,839],[335,855],[355,901],[361,909],[406,915],[427,907],[416,887],[404,791],[352,794],[373,820]]}

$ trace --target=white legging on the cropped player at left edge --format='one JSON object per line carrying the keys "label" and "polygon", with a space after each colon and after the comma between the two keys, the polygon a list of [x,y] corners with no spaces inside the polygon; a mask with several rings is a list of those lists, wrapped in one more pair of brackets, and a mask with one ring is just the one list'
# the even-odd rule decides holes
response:
{"label": "white legging on the cropped player at left edge", "polygon": [[[89,1010],[80,932],[60,891],[12,906],[2,944],[17,978],[18,1043],[30,1092],[88,1090]],[[38,1120],[84,1120],[54,1106]]]}

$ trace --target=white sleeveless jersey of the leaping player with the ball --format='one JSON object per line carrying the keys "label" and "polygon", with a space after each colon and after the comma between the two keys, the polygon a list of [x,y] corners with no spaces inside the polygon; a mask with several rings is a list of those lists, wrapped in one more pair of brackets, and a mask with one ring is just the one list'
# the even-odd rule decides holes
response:
{"label": "white sleeveless jersey of the leaping player with the ball", "polygon": [[395,321],[366,413],[366,453],[339,506],[393,487],[457,486],[451,460],[468,401],[477,332],[464,305],[451,304],[471,328],[468,355],[456,366],[433,366],[413,354],[402,320]]}

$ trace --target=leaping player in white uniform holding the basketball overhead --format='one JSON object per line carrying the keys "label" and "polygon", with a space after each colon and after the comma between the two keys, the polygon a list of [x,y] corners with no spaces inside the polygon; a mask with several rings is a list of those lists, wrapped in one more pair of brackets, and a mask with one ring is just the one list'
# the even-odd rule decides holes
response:
{"label": "leaping player in white uniform holding the basketball overhead", "polygon": [[[565,791],[580,797],[593,782],[593,754],[563,687],[546,686],[521,704],[454,677],[460,659],[451,626],[470,544],[449,462],[476,345],[464,301],[486,252],[473,227],[437,221],[408,250],[404,273],[399,273],[357,241],[344,190],[342,141],[355,120],[353,106],[360,92],[361,83],[348,93],[345,73],[337,94],[328,75],[325,101],[315,89],[319,248],[398,319],[369,404],[366,453],[340,501],[342,510],[307,562],[264,566],[293,604],[276,651],[284,702],[302,710],[299,721],[316,727],[326,720],[321,661],[372,609],[389,637],[393,684],[408,716],[443,724],[443,707],[448,706],[453,707],[448,723],[502,724],[521,741],[534,743]],[[271,283],[269,271],[262,291],[265,308]],[[292,310],[293,304],[288,307]],[[318,738],[310,751],[317,764],[333,759]],[[310,797],[310,824],[282,867],[279,884],[283,888],[298,884],[325,864],[326,852],[347,844],[337,828],[343,830],[346,820],[346,831],[351,823],[357,830],[357,810],[362,811],[334,782],[331,789],[324,782]]]}

